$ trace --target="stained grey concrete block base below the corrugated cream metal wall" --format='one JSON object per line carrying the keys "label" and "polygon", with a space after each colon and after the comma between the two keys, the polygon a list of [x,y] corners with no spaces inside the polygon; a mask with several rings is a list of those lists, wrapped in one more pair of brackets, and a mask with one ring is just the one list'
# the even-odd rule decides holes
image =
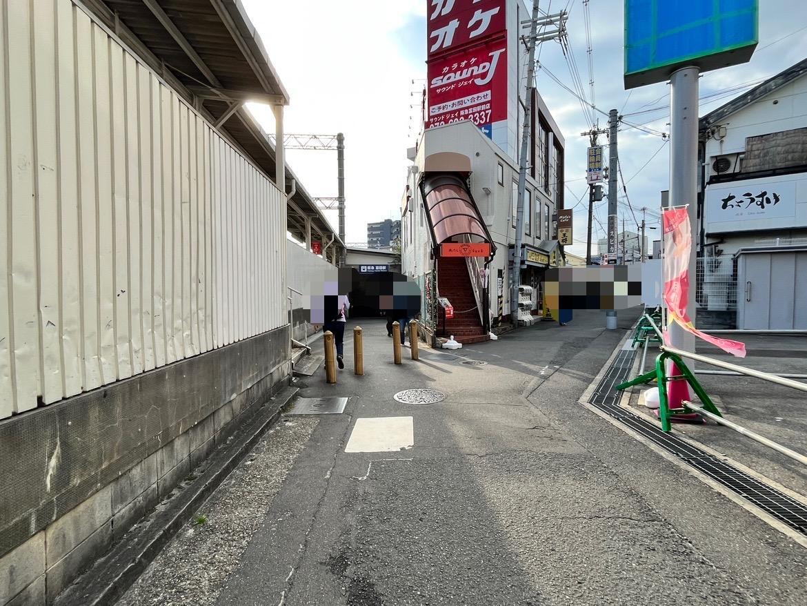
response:
{"label": "stained grey concrete block base below the corrugated cream metal wall", "polygon": [[47,604],[290,372],[289,326],[0,422],[0,605]]}

